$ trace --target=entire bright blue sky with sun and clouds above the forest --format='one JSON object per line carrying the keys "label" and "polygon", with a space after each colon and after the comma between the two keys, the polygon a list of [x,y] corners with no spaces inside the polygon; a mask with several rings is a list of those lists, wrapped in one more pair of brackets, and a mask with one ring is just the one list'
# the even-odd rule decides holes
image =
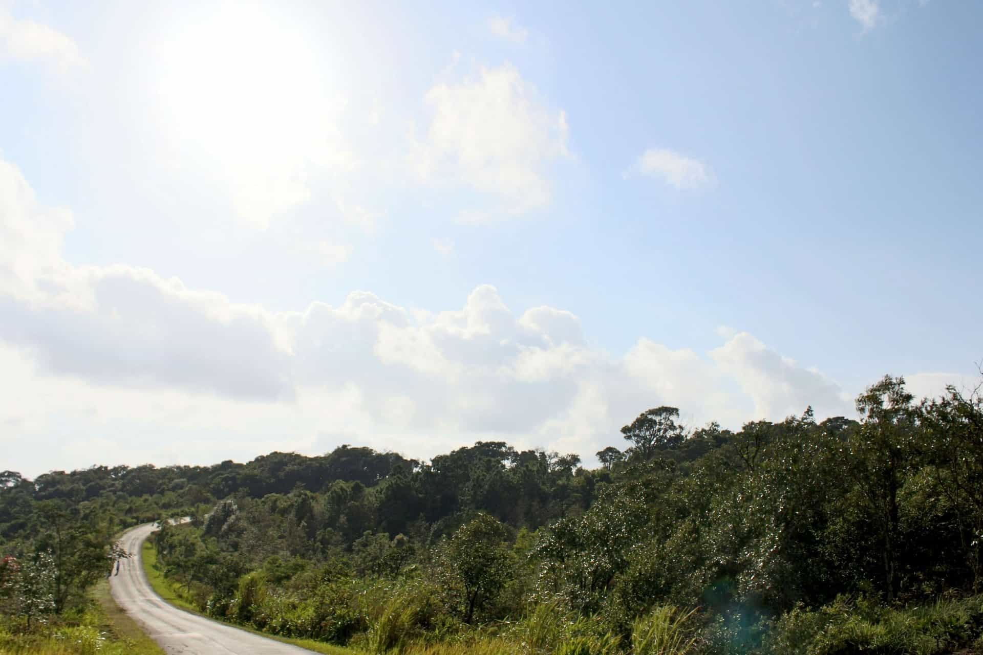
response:
{"label": "entire bright blue sky with sun and clouds above the forest", "polygon": [[0,468],[979,379],[983,4],[0,0]]}

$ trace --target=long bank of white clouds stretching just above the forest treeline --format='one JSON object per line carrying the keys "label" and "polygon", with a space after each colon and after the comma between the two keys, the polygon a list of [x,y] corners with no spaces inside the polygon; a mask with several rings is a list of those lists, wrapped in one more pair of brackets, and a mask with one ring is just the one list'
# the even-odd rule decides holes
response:
{"label": "long bank of white clouds stretching just above the forest treeline", "polygon": [[722,332],[709,353],[643,337],[610,355],[572,312],[514,312],[490,285],[443,311],[357,291],[272,312],[144,268],[74,266],[61,255],[71,227],[0,160],[0,444],[29,474],[338,443],[426,458],[480,439],[590,462],[660,405],[726,427],[808,405],[853,415],[834,381],[747,333]]}

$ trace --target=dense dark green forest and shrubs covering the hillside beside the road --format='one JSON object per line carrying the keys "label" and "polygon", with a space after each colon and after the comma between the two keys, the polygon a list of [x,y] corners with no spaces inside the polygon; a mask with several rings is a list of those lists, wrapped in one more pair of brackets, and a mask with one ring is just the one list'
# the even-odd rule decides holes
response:
{"label": "dense dark green forest and shrubs covering the hillside beside the road", "polygon": [[161,520],[202,613],[355,650],[983,653],[978,392],[885,377],[856,420],[737,431],[649,409],[595,469],[480,442],[5,471],[0,609],[24,630],[84,604],[129,555],[113,535]]}

